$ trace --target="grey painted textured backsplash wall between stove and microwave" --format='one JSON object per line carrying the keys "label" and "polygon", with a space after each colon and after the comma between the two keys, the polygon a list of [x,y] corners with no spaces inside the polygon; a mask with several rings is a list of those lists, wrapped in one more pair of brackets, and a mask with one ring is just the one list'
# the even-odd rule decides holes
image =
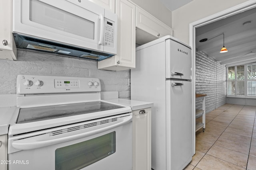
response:
{"label": "grey painted textured backsplash wall between stove and microwave", "polygon": [[96,61],[60,57],[34,51],[17,51],[17,61],[0,60],[0,94],[16,94],[18,74],[95,77],[102,91],[118,91],[119,98],[130,99],[130,70],[98,70]]}

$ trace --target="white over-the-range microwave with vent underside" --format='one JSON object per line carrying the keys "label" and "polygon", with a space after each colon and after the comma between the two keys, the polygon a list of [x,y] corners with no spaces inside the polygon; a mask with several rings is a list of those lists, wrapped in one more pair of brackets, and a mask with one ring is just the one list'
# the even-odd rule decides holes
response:
{"label": "white over-the-range microwave with vent underside", "polygon": [[116,14],[88,0],[13,0],[16,47],[101,61],[116,54]]}

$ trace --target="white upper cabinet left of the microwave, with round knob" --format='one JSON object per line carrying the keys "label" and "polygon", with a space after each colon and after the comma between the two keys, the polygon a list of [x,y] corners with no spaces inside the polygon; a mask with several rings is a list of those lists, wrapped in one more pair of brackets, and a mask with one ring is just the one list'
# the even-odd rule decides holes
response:
{"label": "white upper cabinet left of the microwave, with round knob", "polygon": [[0,1],[0,59],[17,60],[12,35],[12,0]]}

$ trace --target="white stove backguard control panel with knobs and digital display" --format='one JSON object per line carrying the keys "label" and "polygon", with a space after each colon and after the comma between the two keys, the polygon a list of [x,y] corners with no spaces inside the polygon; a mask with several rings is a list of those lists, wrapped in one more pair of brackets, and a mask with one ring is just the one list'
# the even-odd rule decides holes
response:
{"label": "white stove backguard control panel with knobs and digital display", "polygon": [[17,94],[100,92],[98,78],[18,75]]}

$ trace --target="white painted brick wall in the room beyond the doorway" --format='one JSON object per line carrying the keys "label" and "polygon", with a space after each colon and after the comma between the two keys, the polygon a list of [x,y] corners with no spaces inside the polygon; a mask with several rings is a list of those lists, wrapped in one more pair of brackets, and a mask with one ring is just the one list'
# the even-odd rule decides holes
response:
{"label": "white painted brick wall in the room beyond the doorway", "polygon": [[[196,93],[207,94],[206,113],[226,103],[226,68],[202,52],[196,52]],[[202,109],[201,100],[196,109]]]}

